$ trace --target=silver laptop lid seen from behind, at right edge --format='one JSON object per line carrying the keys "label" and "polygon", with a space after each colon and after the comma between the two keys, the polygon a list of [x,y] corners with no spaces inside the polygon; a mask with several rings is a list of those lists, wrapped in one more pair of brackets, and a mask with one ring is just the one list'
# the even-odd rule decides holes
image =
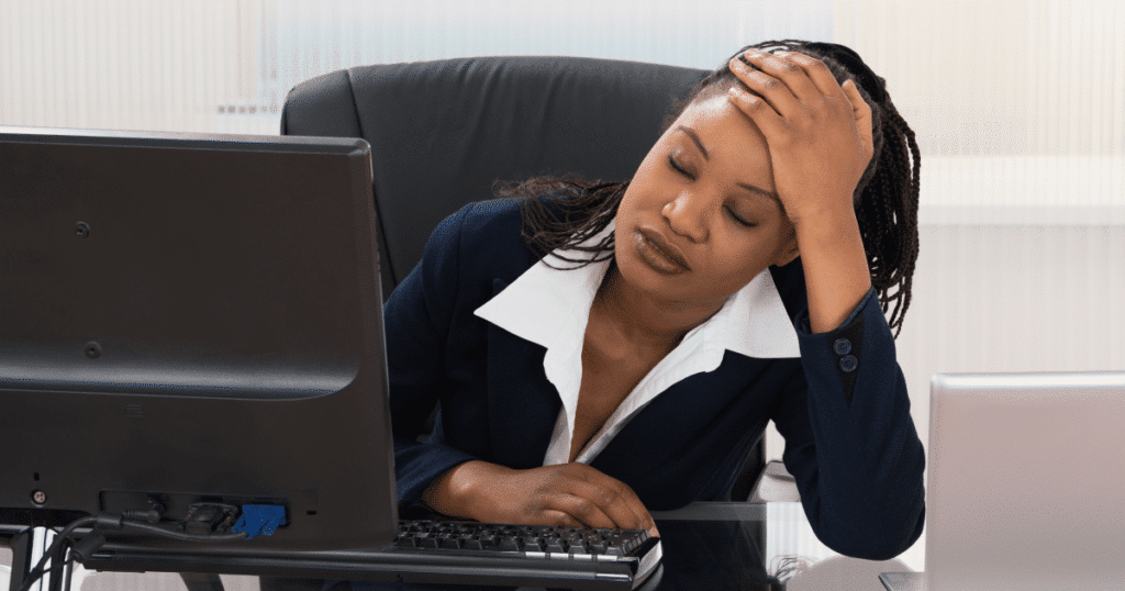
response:
{"label": "silver laptop lid seen from behind, at right edge", "polygon": [[1125,582],[1125,371],[950,374],[930,387],[926,573],[890,591]]}

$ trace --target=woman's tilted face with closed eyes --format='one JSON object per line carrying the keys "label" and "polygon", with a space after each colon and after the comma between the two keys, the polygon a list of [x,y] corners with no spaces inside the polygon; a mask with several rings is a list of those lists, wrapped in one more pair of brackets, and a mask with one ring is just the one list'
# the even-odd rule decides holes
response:
{"label": "woman's tilted face with closed eyes", "polygon": [[796,257],[765,137],[726,93],[690,105],[648,152],[614,241],[630,286],[688,305],[721,303]]}

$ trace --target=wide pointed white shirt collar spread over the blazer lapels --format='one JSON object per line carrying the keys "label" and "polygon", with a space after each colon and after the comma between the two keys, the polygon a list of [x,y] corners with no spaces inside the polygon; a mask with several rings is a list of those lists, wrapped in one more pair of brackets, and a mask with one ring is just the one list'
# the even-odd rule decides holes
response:
{"label": "wide pointed white shirt collar spread over the blazer lapels", "polygon": [[[610,224],[586,240],[594,244],[610,232]],[[590,260],[588,252],[556,251],[569,259]],[[580,348],[594,295],[609,268],[609,260],[574,268],[556,257],[543,260],[476,310],[476,315],[521,339],[548,350]],[[800,357],[796,330],[785,311],[770,269],[763,270],[723,304],[706,322],[692,330],[705,331],[714,346],[763,359]],[[692,334],[688,333],[688,337]],[[561,352],[561,351],[560,351]]]}

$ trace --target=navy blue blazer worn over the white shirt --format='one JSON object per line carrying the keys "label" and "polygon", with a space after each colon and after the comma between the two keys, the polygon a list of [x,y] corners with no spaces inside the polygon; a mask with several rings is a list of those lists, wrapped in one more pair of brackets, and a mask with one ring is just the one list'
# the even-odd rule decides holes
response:
{"label": "navy blue blazer worn over the white shirt", "polygon": [[[541,466],[561,400],[546,349],[474,315],[538,260],[519,204],[469,204],[426,243],[384,308],[400,503],[471,459]],[[770,269],[798,326],[800,359],[727,351],[641,410],[591,466],[649,510],[729,499],[749,448],[773,420],[817,537],[840,554],[885,559],[925,519],[921,441],[894,341],[874,292],[837,330],[811,334],[800,261]],[[418,441],[441,401],[433,437]]]}

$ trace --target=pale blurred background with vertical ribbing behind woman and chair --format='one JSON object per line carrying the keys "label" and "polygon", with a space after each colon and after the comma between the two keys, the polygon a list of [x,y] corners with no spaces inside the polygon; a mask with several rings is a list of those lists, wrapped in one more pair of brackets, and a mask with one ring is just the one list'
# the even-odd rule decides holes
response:
{"label": "pale blurred background with vertical ribbing behind woman and chair", "polygon": [[[917,132],[898,355],[924,442],[936,373],[1125,369],[1116,0],[0,0],[0,125],[277,134],[289,88],[352,65],[712,69],[771,38],[855,48]],[[767,455],[782,449],[771,430]]]}

